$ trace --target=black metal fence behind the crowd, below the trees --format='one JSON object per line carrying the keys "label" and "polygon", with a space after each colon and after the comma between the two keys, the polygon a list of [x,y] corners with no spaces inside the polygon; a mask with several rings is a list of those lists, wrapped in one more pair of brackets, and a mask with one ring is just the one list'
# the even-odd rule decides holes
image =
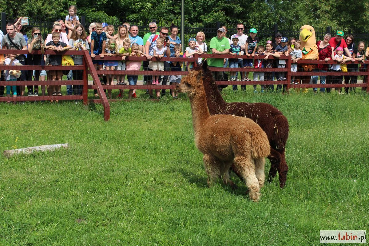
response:
{"label": "black metal fence behind the crowd, below the trees", "polygon": [[[26,34],[28,37],[30,37],[31,29],[33,27],[39,27],[42,37],[46,37],[47,34],[51,33],[52,25],[54,24],[54,21],[56,21],[58,18],[55,18],[55,20],[37,20],[35,18],[30,18],[29,25],[24,26]],[[3,30],[3,33],[6,34],[6,13],[1,13],[1,29]],[[9,20],[8,20],[9,21]],[[88,31],[88,27],[90,23],[93,20],[90,20],[89,18],[86,18],[86,16],[80,16],[80,22],[82,25],[86,27],[86,30]],[[177,25],[179,27],[179,34],[180,36],[180,20],[173,20],[173,21],[164,21],[164,20],[126,20],[131,25],[137,25],[139,28],[139,36],[143,37],[147,32],[149,32],[149,23],[151,21],[155,21],[158,27],[169,27],[172,23]],[[118,26],[123,24],[123,20],[120,20],[116,17],[107,17],[105,19],[101,20],[95,20],[95,22],[107,22],[108,24],[114,25],[115,31],[117,31]],[[210,39],[215,37],[217,35],[217,29],[220,28],[223,24],[221,22],[215,22],[213,24],[203,24],[203,23],[188,23],[185,21],[184,25],[184,42],[183,44],[186,44],[187,40],[190,37],[196,37],[197,32],[202,31],[206,34],[206,42],[209,43]],[[230,37],[232,34],[237,33],[236,25],[232,27],[227,27],[228,33],[227,37]],[[300,27],[298,26],[289,26],[289,27],[279,27],[277,24],[271,26],[271,27],[259,27],[259,26],[251,26],[248,27],[245,25],[245,31],[244,33],[247,34],[249,28],[256,28],[258,30],[258,37],[260,39],[260,43],[265,45],[267,40],[274,40],[274,36],[276,33],[281,33],[285,37],[294,37],[299,38],[299,32]],[[363,33],[363,30],[353,30],[349,28],[344,27],[314,27],[315,35],[318,40],[322,40],[324,35],[328,32],[331,33],[332,36],[335,35],[337,30],[344,31],[345,34],[352,34],[355,38],[355,43],[357,44],[358,41],[364,41],[366,46],[369,46],[369,32]]]}

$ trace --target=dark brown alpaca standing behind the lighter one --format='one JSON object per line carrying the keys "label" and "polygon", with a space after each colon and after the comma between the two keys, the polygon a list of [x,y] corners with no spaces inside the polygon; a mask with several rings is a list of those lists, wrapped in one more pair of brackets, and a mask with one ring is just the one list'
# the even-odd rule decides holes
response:
{"label": "dark brown alpaca standing behind the lighter one", "polygon": [[[210,114],[231,114],[250,118],[265,131],[270,143],[270,160],[268,182],[279,174],[279,186],[286,184],[288,166],[284,156],[288,138],[289,126],[287,118],[276,107],[267,103],[226,103],[217,89],[217,84],[204,62],[193,70],[202,70],[206,101]],[[239,170],[232,166],[232,170],[240,177]]]}

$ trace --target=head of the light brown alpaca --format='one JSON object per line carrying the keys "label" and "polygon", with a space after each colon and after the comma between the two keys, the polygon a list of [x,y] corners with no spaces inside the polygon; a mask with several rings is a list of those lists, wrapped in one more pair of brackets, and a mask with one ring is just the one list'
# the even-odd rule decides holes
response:
{"label": "head of the light brown alpaca", "polygon": [[192,98],[200,90],[204,91],[202,81],[202,71],[189,71],[186,77],[183,77],[181,83],[177,85],[176,90],[187,93],[189,98]]}

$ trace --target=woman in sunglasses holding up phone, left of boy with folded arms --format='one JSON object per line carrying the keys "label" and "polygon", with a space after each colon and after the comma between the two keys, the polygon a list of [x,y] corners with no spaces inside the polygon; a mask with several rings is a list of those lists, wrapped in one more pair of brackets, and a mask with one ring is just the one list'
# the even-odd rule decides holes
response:
{"label": "woman in sunglasses holding up phone, left of boy with folded arms", "polygon": [[[44,61],[44,53],[45,53],[45,41],[41,37],[41,31],[38,27],[32,28],[31,38],[27,41],[28,46],[28,65],[41,66],[45,65]],[[32,51],[41,51],[41,55],[31,54]],[[43,63],[43,64],[42,64]],[[35,81],[45,80],[46,71],[42,70],[42,74],[40,76],[40,70],[35,70]],[[45,86],[41,86],[42,96],[45,96]],[[38,96],[38,86],[35,86],[33,91],[33,96]]]}

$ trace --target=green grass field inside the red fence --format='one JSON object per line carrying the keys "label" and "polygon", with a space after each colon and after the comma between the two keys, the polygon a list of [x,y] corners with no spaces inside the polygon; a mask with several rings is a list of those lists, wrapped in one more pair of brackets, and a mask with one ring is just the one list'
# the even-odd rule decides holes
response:
{"label": "green grass field inside the red fence", "polygon": [[70,148],[1,155],[0,245],[319,245],[320,230],[368,229],[368,95],[224,98],[289,119],[286,188],[266,183],[258,203],[235,175],[238,190],[207,187],[185,95],[111,103],[108,122],[101,105],[1,103],[1,152]]}

